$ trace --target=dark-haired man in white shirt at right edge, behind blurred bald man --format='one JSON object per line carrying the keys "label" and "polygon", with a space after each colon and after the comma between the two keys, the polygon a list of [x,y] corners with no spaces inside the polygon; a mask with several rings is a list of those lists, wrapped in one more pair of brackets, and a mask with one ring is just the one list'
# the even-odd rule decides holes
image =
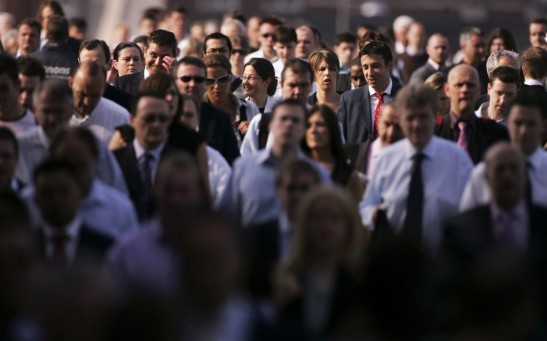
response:
{"label": "dark-haired man in white shirt at right edge, behind blurred bald man", "polygon": [[[509,108],[508,129],[512,144],[525,156],[527,163],[527,200],[539,206],[547,206],[547,153],[541,145],[543,133],[543,106],[533,95],[519,94]],[[479,163],[460,202],[460,210],[466,211],[487,204],[492,195],[485,178],[485,164]]]}

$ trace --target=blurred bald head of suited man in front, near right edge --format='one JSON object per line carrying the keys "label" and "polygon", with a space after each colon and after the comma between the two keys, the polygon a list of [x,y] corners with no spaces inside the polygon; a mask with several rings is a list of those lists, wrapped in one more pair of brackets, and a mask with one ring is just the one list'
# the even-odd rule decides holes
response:
{"label": "blurred bald head of suited man in front, near right edge", "polygon": [[501,142],[488,149],[484,159],[492,199],[500,208],[512,209],[524,197],[526,167],[523,154],[509,143]]}

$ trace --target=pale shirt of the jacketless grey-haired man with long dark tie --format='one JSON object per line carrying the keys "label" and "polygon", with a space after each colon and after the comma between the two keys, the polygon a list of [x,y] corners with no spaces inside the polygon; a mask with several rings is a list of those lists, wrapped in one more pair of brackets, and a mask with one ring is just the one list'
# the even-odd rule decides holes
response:
{"label": "pale shirt of the jacketless grey-haired man with long dark tie", "polygon": [[[473,168],[467,153],[454,142],[433,136],[422,150],[424,214],[422,241],[432,253],[438,248],[446,219],[458,213],[461,194]],[[406,202],[412,175],[414,146],[404,139],[382,151],[376,170],[359,205],[363,224],[372,226],[372,215],[380,204],[399,232],[406,217]]]}

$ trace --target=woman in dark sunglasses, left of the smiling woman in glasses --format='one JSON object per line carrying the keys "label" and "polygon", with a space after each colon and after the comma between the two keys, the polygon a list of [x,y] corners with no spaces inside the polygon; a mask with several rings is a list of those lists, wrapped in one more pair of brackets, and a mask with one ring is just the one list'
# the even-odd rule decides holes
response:
{"label": "woman in dark sunglasses, left of the smiling woman in glasses", "polygon": [[203,63],[207,70],[207,90],[203,101],[230,115],[234,133],[241,146],[241,139],[247,133],[249,121],[258,114],[258,108],[252,101],[239,99],[232,94],[232,65],[226,56],[208,54],[203,58]]}

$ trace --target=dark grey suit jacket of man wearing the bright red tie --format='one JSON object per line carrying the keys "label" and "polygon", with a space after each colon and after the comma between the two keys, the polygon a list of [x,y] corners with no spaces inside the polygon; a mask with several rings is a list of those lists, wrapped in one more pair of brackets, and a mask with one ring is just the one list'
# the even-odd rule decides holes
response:
{"label": "dark grey suit jacket of man wearing the bright red tie", "polygon": [[[400,85],[393,82],[390,97],[395,98],[400,89]],[[372,126],[368,85],[342,94],[338,109],[338,121],[342,124],[347,144],[359,144],[372,140],[374,127]]]}

